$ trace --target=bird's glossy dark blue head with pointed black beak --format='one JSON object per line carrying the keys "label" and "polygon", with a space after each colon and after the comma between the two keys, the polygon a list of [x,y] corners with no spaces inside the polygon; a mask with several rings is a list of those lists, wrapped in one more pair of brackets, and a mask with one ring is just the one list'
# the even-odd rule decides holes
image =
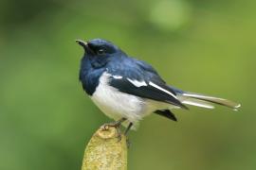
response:
{"label": "bird's glossy dark blue head with pointed black beak", "polygon": [[95,67],[102,67],[111,59],[119,57],[119,53],[123,53],[114,43],[102,39],[93,39],[88,42],[77,40],[76,42],[83,47],[84,58],[90,59]]}

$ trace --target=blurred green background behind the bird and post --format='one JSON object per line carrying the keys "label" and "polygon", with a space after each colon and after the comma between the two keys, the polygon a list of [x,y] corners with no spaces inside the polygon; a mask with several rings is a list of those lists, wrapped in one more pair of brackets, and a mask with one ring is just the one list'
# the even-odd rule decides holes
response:
{"label": "blurred green background behind the bird and post", "polygon": [[242,103],[152,115],[130,133],[129,169],[256,168],[254,0],[1,0],[0,169],[80,169],[110,122],[78,80],[82,48],[103,38],[183,90]]}

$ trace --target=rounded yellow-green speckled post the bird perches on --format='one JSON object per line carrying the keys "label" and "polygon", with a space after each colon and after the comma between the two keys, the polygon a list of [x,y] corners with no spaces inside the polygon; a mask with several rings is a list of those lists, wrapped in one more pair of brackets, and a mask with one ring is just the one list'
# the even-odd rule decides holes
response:
{"label": "rounded yellow-green speckled post the bird perches on", "polygon": [[119,127],[102,126],[87,144],[82,170],[127,170],[127,144]]}

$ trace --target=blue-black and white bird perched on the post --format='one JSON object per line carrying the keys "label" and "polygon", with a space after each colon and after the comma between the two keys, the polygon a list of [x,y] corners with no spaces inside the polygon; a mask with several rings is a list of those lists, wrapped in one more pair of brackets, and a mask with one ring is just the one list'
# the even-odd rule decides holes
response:
{"label": "blue-black and white bird perched on the post", "polygon": [[76,40],[83,50],[79,79],[95,105],[115,122],[108,126],[137,129],[140,120],[151,113],[177,121],[174,109],[188,105],[214,109],[214,104],[238,110],[239,103],[200,93],[182,91],[168,85],[155,68],[135,59],[113,42]]}

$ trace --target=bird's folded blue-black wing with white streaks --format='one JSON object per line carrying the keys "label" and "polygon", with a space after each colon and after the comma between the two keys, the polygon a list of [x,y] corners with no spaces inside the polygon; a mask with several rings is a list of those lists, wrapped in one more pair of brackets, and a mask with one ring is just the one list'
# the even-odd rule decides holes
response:
{"label": "bird's folded blue-black wing with white streaks", "polygon": [[[136,66],[134,66],[136,64]],[[109,84],[122,93],[130,93],[143,98],[170,103],[174,106],[188,109],[176,97],[171,87],[165,84],[155,70],[144,62],[133,63],[133,68],[123,67],[112,73]]]}

